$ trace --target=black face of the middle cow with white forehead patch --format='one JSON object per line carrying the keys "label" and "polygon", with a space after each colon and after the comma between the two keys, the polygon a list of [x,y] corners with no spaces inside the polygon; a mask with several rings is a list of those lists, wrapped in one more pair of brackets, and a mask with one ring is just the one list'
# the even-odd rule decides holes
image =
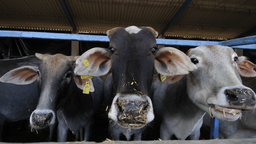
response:
{"label": "black face of the middle cow with white forehead patch", "polygon": [[108,31],[116,91],[109,117],[123,127],[140,128],[154,119],[149,98],[157,49],[153,32],[138,27]]}

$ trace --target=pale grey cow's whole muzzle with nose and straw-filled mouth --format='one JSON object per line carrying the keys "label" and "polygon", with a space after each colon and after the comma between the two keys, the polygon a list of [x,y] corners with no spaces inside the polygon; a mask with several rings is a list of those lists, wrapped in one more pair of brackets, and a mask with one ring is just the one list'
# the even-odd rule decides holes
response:
{"label": "pale grey cow's whole muzzle with nose and straw-filled mouth", "polygon": [[218,94],[219,99],[208,100],[209,113],[220,120],[235,121],[242,117],[242,110],[254,110],[256,95],[253,90],[244,87],[223,88]]}

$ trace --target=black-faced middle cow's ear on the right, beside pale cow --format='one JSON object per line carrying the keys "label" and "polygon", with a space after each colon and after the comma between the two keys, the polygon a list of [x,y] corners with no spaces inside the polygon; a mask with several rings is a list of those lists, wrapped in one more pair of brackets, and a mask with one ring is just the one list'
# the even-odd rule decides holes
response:
{"label": "black-faced middle cow's ear on the right, beside pale cow", "polygon": [[176,48],[160,48],[155,55],[155,69],[161,75],[186,75],[197,69],[190,58]]}

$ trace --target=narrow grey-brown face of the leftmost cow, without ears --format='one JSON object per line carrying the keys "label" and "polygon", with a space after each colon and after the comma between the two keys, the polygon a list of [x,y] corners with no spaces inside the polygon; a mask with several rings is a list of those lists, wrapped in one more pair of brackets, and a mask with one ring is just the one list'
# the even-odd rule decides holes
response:
{"label": "narrow grey-brown face of the leftmost cow, without ears", "polygon": [[30,123],[32,127],[44,128],[55,123],[56,106],[64,98],[60,96],[66,95],[63,93],[71,92],[66,89],[71,89],[69,87],[73,79],[74,59],[61,54],[36,54],[36,56],[42,60],[42,64],[37,70],[40,98],[36,110],[30,117]]}

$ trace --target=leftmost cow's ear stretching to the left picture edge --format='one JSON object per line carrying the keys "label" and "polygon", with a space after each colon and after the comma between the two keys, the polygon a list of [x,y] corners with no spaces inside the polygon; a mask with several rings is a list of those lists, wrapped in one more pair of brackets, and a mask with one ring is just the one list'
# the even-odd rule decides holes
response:
{"label": "leftmost cow's ear stretching to the left picture edge", "polygon": [[35,82],[38,77],[38,67],[23,66],[17,69],[10,70],[0,78],[0,82],[14,84],[29,84]]}

